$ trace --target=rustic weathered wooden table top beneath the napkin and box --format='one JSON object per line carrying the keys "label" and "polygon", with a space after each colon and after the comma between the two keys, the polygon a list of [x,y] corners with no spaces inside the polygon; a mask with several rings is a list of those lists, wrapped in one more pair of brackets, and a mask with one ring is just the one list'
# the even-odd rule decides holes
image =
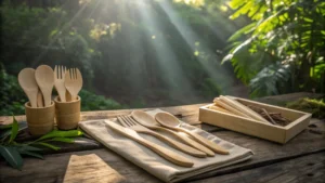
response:
{"label": "rustic weathered wooden table top beneath the napkin and box", "polygon": [[[309,128],[285,145],[220,129],[198,121],[195,104],[162,107],[185,122],[200,126],[214,135],[255,152],[243,164],[200,174],[186,182],[325,182],[325,121],[312,119]],[[148,108],[146,108],[148,109]],[[131,109],[86,112],[82,120],[113,118]],[[24,120],[24,116],[18,117]],[[10,117],[0,117],[8,122]],[[104,148],[98,142],[79,138],[58,152],[47,152],[44,160],[25,158],[23,170],[0,160],[0,182],[160,182],[143,169]]]}

